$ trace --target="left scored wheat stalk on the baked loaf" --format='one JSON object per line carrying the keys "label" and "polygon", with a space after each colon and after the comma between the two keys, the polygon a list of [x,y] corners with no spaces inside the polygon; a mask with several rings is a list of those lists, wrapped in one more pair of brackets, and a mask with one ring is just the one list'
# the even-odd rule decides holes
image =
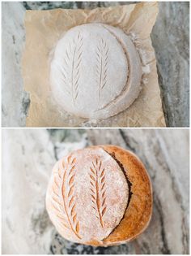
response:
{"label": "left scored wheat stalk on the baked loaf", "polygon": [[[57,211],[57,217],[61,220],[62,226],[70,228],[81,239],[79,235],[79,220],[75,210],[75,162],[76,158],[70,155],[66,163],[62,163],[63,176],[60,169],[57,171],[57,179],[54,178],[53,186],[53,207]],[[59,194],[59,189],[61,189],[61,194]]]}

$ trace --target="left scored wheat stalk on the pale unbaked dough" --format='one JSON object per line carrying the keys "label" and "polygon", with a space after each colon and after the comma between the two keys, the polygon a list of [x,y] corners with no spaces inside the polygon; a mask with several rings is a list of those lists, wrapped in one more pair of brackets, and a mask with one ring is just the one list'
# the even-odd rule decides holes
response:
{"label": "left scored wheat stalk on the pale unbaked dough", "polygon": [[[83,37],[81,33],[79,33],[76,38],[70,41],[70,45],[66,49],[66,54],[63,59],[64,65],[60,67],[62,81],[66,85],[66,92],[71,95],[74,105],[79,96],[79,75],[82,54]],[[67,88],[68,85],[69,88]]]}

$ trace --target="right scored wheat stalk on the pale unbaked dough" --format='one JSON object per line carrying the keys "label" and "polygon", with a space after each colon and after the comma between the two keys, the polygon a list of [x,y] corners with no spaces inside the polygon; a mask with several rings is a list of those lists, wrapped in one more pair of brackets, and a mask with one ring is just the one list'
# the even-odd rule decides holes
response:
{"label": "right scored wheat stalk on the pale unbaked dough", "polygon": [[108,77],[108,46],[103,38],[100,39],[96,50],[96,77],[96,82],[99,85],[98,98],[100,102],[100,93],[107,84]]}

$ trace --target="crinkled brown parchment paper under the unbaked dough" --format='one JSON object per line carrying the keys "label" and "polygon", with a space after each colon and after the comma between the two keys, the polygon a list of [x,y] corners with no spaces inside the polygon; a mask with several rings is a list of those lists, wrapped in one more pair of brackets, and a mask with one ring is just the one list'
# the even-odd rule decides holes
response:
{"label": "crinkled brown parchment paper under the unbaked dough", "polygon": [[[24,89],[31,104],[30,127],[163,127],[165,126],[155,52],[150,33],[158,14],[156,2],[94,10],[26,11],[26,45],[23,52]],[[142,59],[142,91],[129,108],[103,120],[88,120],[63,112],[53,102],[49,85],[49,63],[57,41],[70,28],[80,24],[104,23],[121,28],[130,35]]]}

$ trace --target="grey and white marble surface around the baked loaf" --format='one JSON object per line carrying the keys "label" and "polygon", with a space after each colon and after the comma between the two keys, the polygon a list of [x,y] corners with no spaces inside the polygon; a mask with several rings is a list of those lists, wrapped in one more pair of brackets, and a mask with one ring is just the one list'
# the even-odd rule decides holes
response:
{"label": "grey and white marble surface around the baked loaf", "polygon": [[[154,195],[146,232],[108,248],[66,241],[45,210],[57,159],[99,144],[120,145],[138,154]],[[2,254],[189,254],[189,130],[3,129]]]}

